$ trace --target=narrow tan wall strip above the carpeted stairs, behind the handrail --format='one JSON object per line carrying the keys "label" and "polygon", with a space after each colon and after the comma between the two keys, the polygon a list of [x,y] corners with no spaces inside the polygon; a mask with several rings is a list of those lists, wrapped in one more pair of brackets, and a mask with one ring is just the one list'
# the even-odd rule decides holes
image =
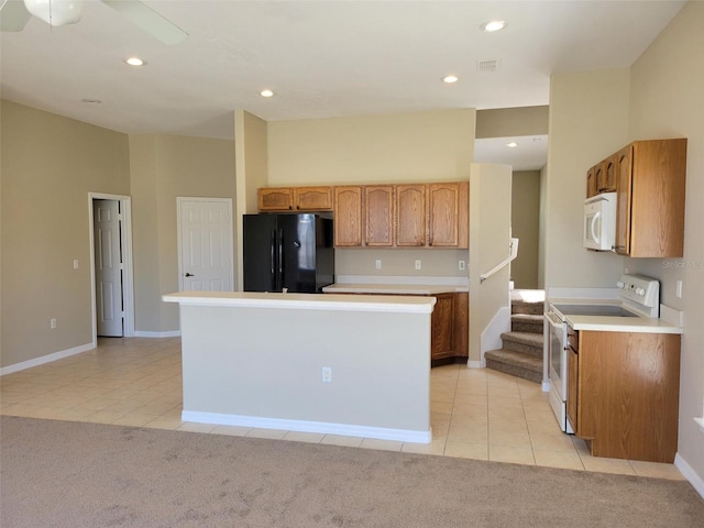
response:
{"label": "narrow tan wall strip above the carpeted stairs, behind the handrail", "polygon": [[515,288],[538,287],[540,234],[540,170],[514,172],[512,177],[512,237],[519,240],[518,256],[510,264]]}

